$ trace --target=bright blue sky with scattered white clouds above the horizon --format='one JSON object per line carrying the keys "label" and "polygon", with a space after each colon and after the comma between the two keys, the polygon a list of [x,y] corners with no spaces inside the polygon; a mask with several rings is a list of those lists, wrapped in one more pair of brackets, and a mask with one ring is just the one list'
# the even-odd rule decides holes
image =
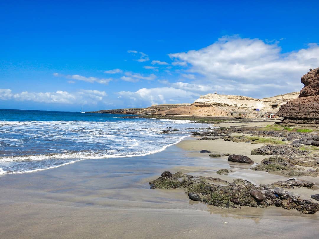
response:
{"label": "bright blue sky with scattered white clouds above the horizon", "polygon": [[2,1],[0,108],[263,98],[319,67],[317,1]]}

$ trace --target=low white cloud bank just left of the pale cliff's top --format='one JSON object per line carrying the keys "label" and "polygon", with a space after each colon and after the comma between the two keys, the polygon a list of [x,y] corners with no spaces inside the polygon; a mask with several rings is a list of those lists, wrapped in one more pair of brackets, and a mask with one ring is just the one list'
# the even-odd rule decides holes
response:
{"label": "low white cloud bank just left of the pale cliff's top", "polygon": [[161,87],[161,88],[142,88],[138,91],[121,91],[118,92],[121,99],[126,101],[125,103],[130,107],[145,106],[145,105],[157,105],[166,104],[168,102],[193,102],[200,95],[194,92],[185,91],[181,89],[175,89],[173,87]]}

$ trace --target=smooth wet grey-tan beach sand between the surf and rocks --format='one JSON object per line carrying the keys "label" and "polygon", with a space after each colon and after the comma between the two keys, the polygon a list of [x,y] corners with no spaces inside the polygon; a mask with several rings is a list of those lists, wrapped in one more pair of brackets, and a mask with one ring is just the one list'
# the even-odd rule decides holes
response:
{"label": "smooth wet grey-tan beach sand between the surf and rocks", "polygon": [[[150,189],[148,182],[164,170],[228,181],[241,177],[255,184],[288,178],[199,153],[207,149],[249,155],[260,145],[197,139],[189,137],[148,156],[84,160],[0,175],[0,237],[318,238],[318,214],[279,207],[221,209],[191,201],[183,190]],[[259,163],[263,156],[251,158]],[[221,168],[234,173],[217,175]],[[299,189],[302,197],[319,193],[317,178],[302,178],[316,183],[313,189]]]}

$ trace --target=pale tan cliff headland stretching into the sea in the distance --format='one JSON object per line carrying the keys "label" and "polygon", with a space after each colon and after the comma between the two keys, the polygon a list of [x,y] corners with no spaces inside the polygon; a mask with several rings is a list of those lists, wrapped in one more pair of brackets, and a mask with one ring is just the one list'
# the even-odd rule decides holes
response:
{"label": "pale tan cliff headland stretching into the sea in the distance", "polygon": [[96,113],[137,115],[186,115],[186,116],[244,116],[275,117],[281,105],[297,98],[299,92],[270,98],[251,98],[236,95],[203,95],[192,104],[163,104],[147,108],[101,110]]}

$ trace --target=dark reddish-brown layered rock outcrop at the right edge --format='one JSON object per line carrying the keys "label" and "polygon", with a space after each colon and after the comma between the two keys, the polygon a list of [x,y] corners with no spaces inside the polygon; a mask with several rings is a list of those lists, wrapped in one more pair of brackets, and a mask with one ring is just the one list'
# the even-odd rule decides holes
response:
{"label": "dark reddish-brown layered rock outcrop at the right edge", "polygon": [[281,105],[277,115],[287,124],[319,124],[319,67],[301,77],[299,97]]}

